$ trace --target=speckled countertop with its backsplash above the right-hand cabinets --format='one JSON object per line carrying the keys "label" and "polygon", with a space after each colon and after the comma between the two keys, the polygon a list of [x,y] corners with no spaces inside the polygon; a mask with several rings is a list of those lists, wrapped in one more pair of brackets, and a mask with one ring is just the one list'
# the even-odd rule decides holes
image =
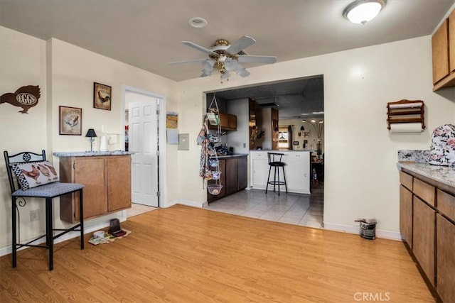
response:
{"label": "speckled countertop with its backsplash above the right-hand cabinets", "polygon": [[442,184],[455,187],[455,167],[432,165],[427,162],[429,150],[399,150],[398,170],[405,168]]}

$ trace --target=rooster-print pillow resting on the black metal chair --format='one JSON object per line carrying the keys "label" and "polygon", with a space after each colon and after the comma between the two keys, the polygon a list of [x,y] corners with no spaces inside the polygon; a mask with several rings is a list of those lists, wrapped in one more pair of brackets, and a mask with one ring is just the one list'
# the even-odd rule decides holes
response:
{"label": "rooster-print pillow resting on the black metal chair", "polygon": [[22,190],[58,182],[57,172],[48,161],[14,163],[11,169]]}

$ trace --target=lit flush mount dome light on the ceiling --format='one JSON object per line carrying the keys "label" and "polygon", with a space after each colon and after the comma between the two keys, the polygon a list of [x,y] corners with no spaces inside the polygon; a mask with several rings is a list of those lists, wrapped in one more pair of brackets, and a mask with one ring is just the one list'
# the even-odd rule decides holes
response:
{"label": "lit flush mount dome light on the ceiling", "polygon": [[365,24],[378,16],[386,0],[357,0],[346,6],[343,16],[352,23]]}

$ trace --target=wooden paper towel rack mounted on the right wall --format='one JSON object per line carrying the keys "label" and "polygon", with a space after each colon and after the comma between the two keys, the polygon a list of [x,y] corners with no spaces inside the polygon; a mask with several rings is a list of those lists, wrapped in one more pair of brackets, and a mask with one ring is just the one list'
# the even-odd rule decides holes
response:
{"label": "wooden paper towel rack mounted on the right wall", "polygon": [[387,103],[387,129],[393,123],[420,123],[422,130],[424,123],[424,101],[400,100]]}

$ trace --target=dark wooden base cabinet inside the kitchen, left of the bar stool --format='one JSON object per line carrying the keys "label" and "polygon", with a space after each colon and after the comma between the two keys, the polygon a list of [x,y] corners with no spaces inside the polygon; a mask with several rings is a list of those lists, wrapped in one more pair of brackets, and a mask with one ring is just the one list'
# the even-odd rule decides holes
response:
{"label": "dark wooden base cabinet inside the kitchen, left of the bar stool", "polygon": [[[216,196],[207,192],[208,202],[221,199],[247,187],[247,161],[246,156],[218,160],[221,172],[220,182],[223,188]],[[214,180],[208,181],[208,184],[213,183],[215,183]]]}

